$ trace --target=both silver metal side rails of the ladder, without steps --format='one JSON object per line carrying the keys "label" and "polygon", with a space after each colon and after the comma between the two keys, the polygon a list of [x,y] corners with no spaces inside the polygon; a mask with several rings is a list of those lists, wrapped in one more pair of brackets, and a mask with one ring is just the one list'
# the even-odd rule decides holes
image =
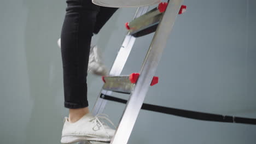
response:
{"label": "both silver metal side rails of the ladder, without steps", "polygon": [[[147,56],[144,59],[141,75],[139,76],[138,81],[130,95],[130,98],[127,101],[125,111],[121,117],[117,131],[115,132],[115,135],[110,144],[123,144],[127,143],[129,140],[131,131],[138,117],[139,110],[141,110],[144,98],[146,97],[148,88],[155,74],[156,68],[158,67],[162,52],[166,47],[168,36],[170,35],[174,21],[178,15],[183,1],[184,0],[172,0],[168,3],[164,16],[162,17],[162,20],[156,29]],[[146,13],[147,10],[148,7],[138,8],[134,19]],[[135,43],[135,39],[136,38],[132,35],[129,35],[129,33],[126,35],[123,45],[121,46],[117,58],[115,59],[114,64],[110,70],[111,76],[120,75],[130,54],[132,46]],[[101,93],[110,95],[112,92],[102,89]],[[94,115],[97,113],[102,113],[104,107],[107,104],[107,100],[100,98],[100,95],[98,96],[95,106],[92,110]]]}

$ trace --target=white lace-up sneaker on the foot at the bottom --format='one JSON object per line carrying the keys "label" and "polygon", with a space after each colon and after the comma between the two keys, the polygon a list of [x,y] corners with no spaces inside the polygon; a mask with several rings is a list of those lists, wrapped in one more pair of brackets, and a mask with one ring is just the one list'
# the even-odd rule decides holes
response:
{"label": "white lace-up sneaker on the foot at the bottom", "polygon": [[100,118],[106,119],[114,126],[105,114],[93,116],[91,113],[88,113],[75,123],[69,123],[68,118],[65,117],[61,143],[74,143],[78,141],[110,142],[115,130],[100,121]]}

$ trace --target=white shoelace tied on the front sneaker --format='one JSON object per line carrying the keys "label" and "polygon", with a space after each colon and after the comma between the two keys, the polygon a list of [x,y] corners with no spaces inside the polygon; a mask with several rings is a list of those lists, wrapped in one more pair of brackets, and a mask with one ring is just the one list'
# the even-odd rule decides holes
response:
{"label": "white shoelace tied on the front sneaker", "polygon": [[[103,130],[106,132],[106,134],[107,134],[108,137],[109,137],[109,134],[108,134],[107,130],[104,128],[104,125],[107,125],[107,124],[105,124],[104,122],[101,122],[101,121],[100,121],[100,118],[106,119],[110,124],[113,125],[113,127],[114,127],[115,129],[117,129],[117,127],[115,127],[114,123],[113,123],[112,121],[110,121],[110,119],[109,119],[108,117],[109,117],[109,116],[106,115],[106,114],[104,114],[104,113],[98,113],[94,118],[90,119],[90,122],[92,122],[92,121],[96,122],[95,127],[97,126],[98,129],[100,129],[100,127],[102,127]],[[100,126],[98,126],[97,124],[100,124]],[[95,127],[94,127],[94,128],[95,128]]]}

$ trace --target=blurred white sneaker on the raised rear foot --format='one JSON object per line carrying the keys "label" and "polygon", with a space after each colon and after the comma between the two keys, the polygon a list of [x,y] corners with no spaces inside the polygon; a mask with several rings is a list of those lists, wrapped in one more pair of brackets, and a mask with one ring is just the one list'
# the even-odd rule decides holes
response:
{"label": "blurred white sneaker on the raised rear foot", "polygon": [[[61,39],[57,41],[57,44],[61,47]],[[102,58],[96,45],[91,46],[87,72],[100,76],[106,76],[108,74],[108,70],[102,62]]]}

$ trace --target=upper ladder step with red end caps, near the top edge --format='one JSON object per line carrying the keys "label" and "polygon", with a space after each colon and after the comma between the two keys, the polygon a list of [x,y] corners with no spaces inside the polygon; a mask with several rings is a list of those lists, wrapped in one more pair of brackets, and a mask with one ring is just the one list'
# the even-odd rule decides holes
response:
{"label": "upper ladder step with red end caps, near the top edge", "polygon": [[[129,30],[129,34],[134,37],[142,37],[156,31],[159,22],[167,8],[168,3],[162,2],[158,7],[148,11],[146,14],[139,16],[137,19],[126,22],[125,27]],[[183,14],[187,9],[186,5],[182,5],[179,14]]]}

